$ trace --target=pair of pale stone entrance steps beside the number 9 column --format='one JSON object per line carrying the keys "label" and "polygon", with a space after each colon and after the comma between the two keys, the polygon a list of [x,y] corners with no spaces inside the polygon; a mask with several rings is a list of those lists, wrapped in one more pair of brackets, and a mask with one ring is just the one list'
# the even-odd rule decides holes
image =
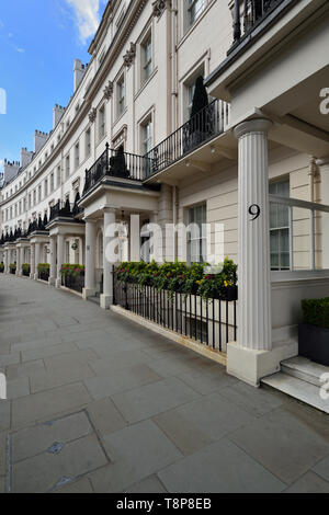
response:
{"label": "pair of pale stone entrance steps beside the number 9 column", "polygon": [[[326,380],[324,374],[328,374]],[[329,387],[327,392],[324,388],[329,385],[329,367],[297,356],[282,362],[281,371],[263,378],[261,384],[329,414]],[[321,388],[328,399],[322,399]]]}

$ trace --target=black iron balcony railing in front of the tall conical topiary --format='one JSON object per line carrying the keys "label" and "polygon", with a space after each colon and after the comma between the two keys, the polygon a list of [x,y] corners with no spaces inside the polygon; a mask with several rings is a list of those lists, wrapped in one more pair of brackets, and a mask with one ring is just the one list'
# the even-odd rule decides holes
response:
{"label": "black iron balcony railing in front of the tall conical topiary", "polygon": [[146,179],[223,134],[228,122],[229,104],[218,99],[214,100],[146,154],[148,158]]}

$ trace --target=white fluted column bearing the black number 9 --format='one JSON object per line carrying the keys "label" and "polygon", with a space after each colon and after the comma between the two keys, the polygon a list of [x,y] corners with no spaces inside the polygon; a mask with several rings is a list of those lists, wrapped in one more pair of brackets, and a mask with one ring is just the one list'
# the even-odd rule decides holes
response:
{"label": "white fluted column bearing the black number 9", "polygon": [[[238,344],[271,351],[268,119],[236,127],[239,139],[239,319]],[[257,217],[257,215],[259,215]]]}

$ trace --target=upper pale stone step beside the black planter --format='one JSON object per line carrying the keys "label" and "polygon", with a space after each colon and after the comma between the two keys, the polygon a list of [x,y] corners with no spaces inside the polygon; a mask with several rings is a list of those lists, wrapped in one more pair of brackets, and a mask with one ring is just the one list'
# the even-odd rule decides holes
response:
{"label": "upper pale stone step beside the black planter", "polygon": [[[292,377],[302,379],[303,381],[321,387],[321,376],[324,374],[329,375],[329,367],[318,365],[317,363],[310,362],[306,357],[297,356],[291,359],[286,359],[281,364],[281,370]],[[329,377],[329,376],[328,376]]]}

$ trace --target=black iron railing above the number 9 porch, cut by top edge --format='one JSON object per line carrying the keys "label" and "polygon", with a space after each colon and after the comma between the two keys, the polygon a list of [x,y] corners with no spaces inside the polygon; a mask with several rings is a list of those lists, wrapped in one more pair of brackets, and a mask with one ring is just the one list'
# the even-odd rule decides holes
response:
{"label": "black iron railing above the number 9 porch, cut by top edge", "polygon": [[248,35],[284,0],[235,0],[234,45]]}

